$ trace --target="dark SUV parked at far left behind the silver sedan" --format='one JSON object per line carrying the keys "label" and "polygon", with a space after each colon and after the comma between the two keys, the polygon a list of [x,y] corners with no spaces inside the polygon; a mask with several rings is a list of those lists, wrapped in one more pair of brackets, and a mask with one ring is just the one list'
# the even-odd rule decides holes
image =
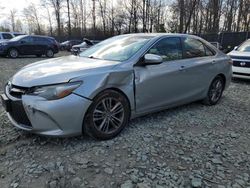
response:
{"label": "dark SUV parked at far left behind the silver sedan", "polygon": [[0,55],[17,58],[19,55],[53,57],[58,53],[57,41],[52,37],[21,35],[0,43]]}

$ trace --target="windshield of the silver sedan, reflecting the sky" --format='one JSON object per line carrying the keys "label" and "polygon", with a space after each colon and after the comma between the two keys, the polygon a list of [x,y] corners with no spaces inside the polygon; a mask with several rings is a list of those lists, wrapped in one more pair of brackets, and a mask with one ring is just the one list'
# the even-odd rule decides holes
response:
{"label": "windshield of the silver sedan, reflecting the sky", "polygon": [[140,50],[153,36],[116,36],[100,42],[80,54],[104,60],[125,61]]}

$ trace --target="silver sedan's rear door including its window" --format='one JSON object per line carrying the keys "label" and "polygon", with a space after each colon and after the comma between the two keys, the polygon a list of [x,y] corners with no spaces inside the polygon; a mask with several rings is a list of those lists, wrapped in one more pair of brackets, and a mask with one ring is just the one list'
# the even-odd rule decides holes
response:
{"label": "silver sedan's rear door including its window", "polygon": [[217,59],[215,52],[199,39],[186,37],[183,42],[183,63],[186,72],[193,74],[193,80],[186,77],[190,84],[187,97],[202,98],[215,76]]}

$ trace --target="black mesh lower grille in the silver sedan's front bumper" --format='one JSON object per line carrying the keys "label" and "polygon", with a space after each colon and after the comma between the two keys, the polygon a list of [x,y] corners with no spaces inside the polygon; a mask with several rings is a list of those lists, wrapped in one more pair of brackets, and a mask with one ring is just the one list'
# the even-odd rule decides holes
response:
{"label": "black mesh lower grille in the silver sedan's front bumper", "polygon": [[18,123],[31,127],[30,120],[23,108],[22,101],[11,101],[10,116]]}

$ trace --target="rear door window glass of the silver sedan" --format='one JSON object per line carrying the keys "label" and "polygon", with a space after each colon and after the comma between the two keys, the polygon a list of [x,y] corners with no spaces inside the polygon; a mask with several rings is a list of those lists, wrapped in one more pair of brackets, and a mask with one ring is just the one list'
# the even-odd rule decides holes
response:
{"label": "rear door window glass of the silver sedan", "polygon": [[206,56],[205,48],[202,42],[192,38],[186,38],[184,43],[184,57],[194,58]]}

